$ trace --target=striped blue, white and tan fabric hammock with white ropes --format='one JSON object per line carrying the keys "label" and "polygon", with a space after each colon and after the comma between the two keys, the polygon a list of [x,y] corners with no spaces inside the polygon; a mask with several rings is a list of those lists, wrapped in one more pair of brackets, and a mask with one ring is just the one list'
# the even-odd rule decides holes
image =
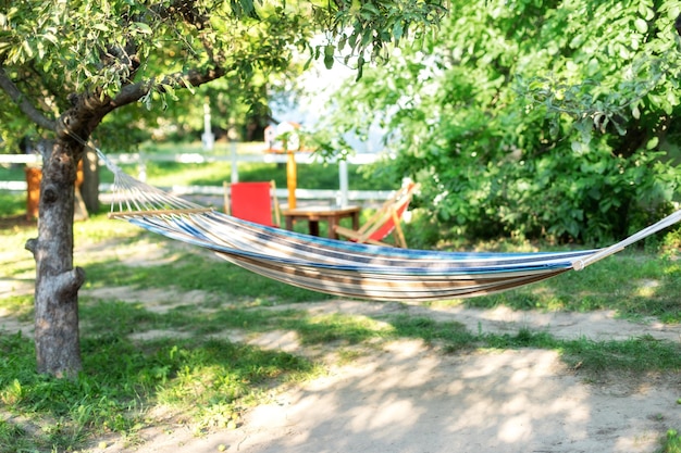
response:
{"label": "striped blue, white and tan fabric hammock with white ropes", "polygon": [[463,253],[359,244],[267,227],[200,206],[123,173],[110,217],[215,252],[248,270],[313,291],[368,300],[432,301],[505,291],[581,270],[681,221],[681,211],[597,250]]}

